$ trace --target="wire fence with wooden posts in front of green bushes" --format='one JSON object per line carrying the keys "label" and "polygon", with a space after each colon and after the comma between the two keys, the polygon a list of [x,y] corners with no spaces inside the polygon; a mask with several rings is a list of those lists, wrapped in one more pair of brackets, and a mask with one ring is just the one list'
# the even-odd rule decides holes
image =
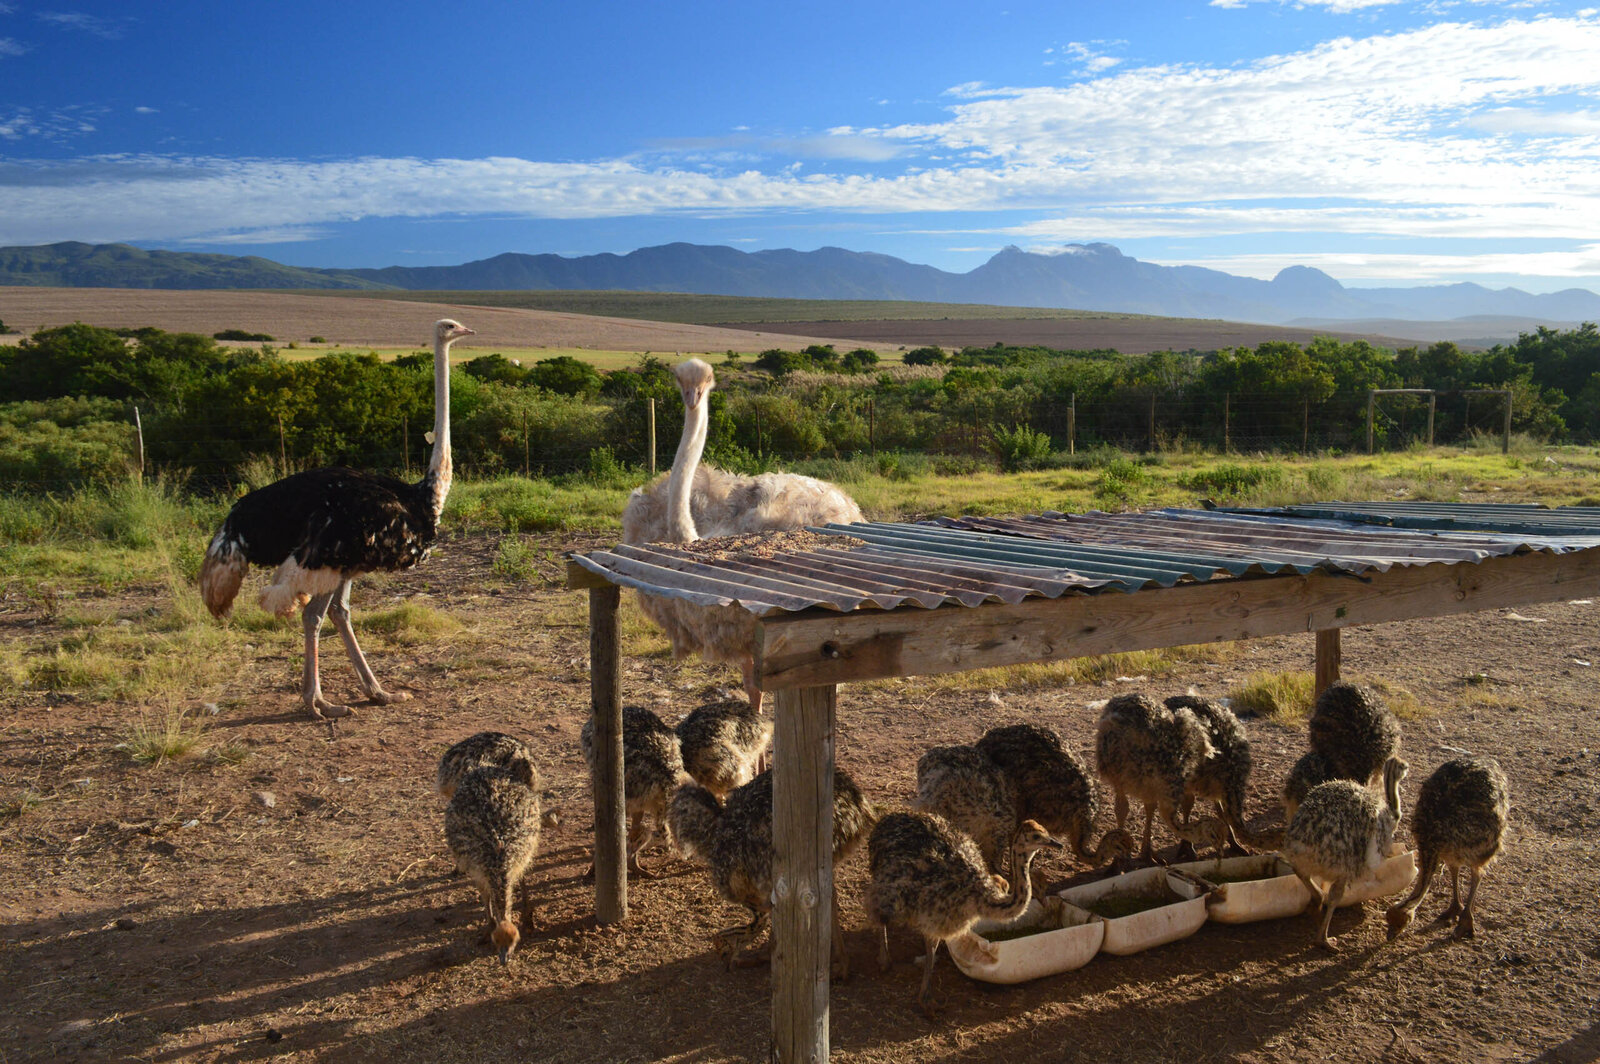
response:
{"label": "wire fence with wooden posts in front of green bushes", "polygon": [[[808,446],[795,443],[805,434],[774,419],[757,402],[741,411],[746,418],[733,426],[731,438],[714,445],[707,458],[744,472],[880,453],[965,458],[1005,467],[1016,459],[1006,445],[1018,427],[1034,437],[1029,462],[1034,466],[1070,464],[1096,451],[1358,453],[1368,450],[1368,434],[1371,450],[1381,451],[1429,442],[1462,445],[1509,432],[1504,392],[1438,392],[1432,395],[1432,410],[1427,398],[1358,394],[1310,402],[1278,394],[1221,398],[1149,394],[1006,405],[990,392],[979,392],[918,408],[898,397],[880,402],[864,389],[850,403],[827,411]],[[670,466],[680,410],[651,410],[650,418],[627,413],[622,402],[582,410],[587,413],[571,422],[526,413],[491,422],[466,419],[451,430],[458,475],[616,475],[624,467],[646,477]],[[134,408],[125,422],[96,422],[96,427],[94,442],[62,429],[32,445],[13,438],[8,446],[6,426],[0,424],[5,488],[66,491],[112,474],[168,472],[198,490],[230,490],[242,478],[328,464],[418,478],[429,464],[432,422],[402,418],[394,427],[374,427],[366,419],[323,418],[315,424],[261,419],[242,426],[195,416],[173,421],[149,411],[141,416]]]}

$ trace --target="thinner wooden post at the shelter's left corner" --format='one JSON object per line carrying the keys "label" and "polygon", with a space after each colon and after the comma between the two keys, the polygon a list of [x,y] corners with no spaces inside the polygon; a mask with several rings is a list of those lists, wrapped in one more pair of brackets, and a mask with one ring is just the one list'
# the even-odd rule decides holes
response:
{"label": "thinner wooden post at the shelter's left corner", "polygon": [[595,771],[595,920],[627,918],[627,805],[622,797],[622,640],[616,611],[622,589],[589,589],[589,710]]}

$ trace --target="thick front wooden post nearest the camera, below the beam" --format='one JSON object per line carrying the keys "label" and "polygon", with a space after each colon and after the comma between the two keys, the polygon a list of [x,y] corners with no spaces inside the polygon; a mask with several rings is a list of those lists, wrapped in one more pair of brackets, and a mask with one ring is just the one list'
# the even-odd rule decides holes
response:
{"label": "thick front wooden post nearest the camera, below the beam", "polygon": [[838,688],[778,691],[773,734],[773,1059],[826,1064]]}

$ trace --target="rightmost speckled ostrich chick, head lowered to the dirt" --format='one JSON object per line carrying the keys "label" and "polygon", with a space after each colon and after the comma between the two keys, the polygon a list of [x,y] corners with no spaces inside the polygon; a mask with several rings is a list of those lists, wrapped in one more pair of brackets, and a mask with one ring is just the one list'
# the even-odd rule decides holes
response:
{"label": "rightmost speckled ostrich chick, head lowered to the dirt", "polygon": [[[1418,874],[1411,896],[1387,912],[1389,938],[1397,938],[1411,923],[1422,904],[1434,870],[1443,861],[1450,869],[1450,907],[1438,914],[1438,923],[1456,920],[1453,938],[1472,938],[1472,901],[1478,894],[1483,869],[1499,854],[1510,816],[1506,773],[1491,757],[1458,757],[1434,770],[1422,781],[1411,813],[1411,835],[1416,838]],[[1466,867],[1467,901],[1461,902],[1461,869]]]}

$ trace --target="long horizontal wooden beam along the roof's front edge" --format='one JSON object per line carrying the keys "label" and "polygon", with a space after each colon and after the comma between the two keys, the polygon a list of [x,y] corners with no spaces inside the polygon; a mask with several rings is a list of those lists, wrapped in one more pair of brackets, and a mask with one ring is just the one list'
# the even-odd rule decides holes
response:
{"label": "long horizontal wooden beam along the roof's front edge", "polygon": [[1600,549],[1478,563],[1312,573],[1133,594],[938,610],[824,610],[765,618],[757,675],[781,691],[883,677],[1066,661],[1126,650],[1322,632],[1600,594]]}

